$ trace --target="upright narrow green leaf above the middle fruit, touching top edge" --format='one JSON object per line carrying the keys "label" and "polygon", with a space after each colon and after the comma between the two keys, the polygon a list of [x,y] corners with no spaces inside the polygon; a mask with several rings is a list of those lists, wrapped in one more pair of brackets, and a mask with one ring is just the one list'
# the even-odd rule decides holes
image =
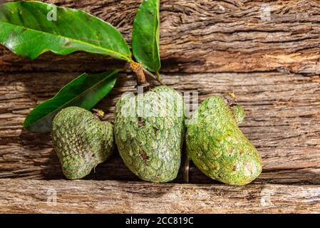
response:
{"label": "upright narrow green leaf above the middle fruit, touching top edge", "polygon": [[160,63],[160,3],[145,0],[140,5],[133,22],[133,55],[143,67],[159,75]]}

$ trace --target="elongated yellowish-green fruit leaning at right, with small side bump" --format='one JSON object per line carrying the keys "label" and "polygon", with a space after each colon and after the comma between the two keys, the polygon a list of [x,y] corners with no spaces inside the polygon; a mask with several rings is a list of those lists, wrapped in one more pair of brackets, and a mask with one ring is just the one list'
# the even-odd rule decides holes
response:
{"label": "elongated yellowish-green fruit leaning at right, with small side bump", "polygon": [[208,177],[229,185],[247,185],[262,172],[259,152],[237,125],[243,116],[238,108],[214,95],[202,102],[187,125],[192,161]]}

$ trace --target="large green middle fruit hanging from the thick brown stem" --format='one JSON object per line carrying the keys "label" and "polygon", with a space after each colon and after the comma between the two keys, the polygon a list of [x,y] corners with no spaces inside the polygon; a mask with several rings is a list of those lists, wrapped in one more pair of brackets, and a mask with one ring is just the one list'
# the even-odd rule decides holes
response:
{"label": "large green middle fruit hanging from the thick brown stem", "polygon": [[[144,108],[137,108],[140,103]],[[185,135],[183,108],[182,96],[167,86],[124,95],[115,105],[115,143],[125,165],[142,180],[177,177]]]}

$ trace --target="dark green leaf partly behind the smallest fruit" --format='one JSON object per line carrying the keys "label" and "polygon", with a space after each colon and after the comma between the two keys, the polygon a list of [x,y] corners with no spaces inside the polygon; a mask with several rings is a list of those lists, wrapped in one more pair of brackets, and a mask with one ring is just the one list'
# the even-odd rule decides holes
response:
{"label": "dark green leaf partly behind the smallest fruit", "polygon": [[119,70],[110,70],[92,76],[83,73],[64,86],[53,98],[36,106],[26,120],[24,128],[36,133],[51,130],[51,122],[59,110],[78,106],[90,110],[112,90]]}

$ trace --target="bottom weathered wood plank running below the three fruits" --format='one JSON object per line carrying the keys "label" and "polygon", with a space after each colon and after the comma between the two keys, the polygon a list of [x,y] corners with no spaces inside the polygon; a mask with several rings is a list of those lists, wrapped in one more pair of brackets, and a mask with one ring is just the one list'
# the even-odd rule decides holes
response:
{"label": "bottom weathered wood plank running below the three fruits", "polygon": [[234,187],[3,179],[0,180],[0,188],[2,213],[320,212],[320,185],[264,184]]}

